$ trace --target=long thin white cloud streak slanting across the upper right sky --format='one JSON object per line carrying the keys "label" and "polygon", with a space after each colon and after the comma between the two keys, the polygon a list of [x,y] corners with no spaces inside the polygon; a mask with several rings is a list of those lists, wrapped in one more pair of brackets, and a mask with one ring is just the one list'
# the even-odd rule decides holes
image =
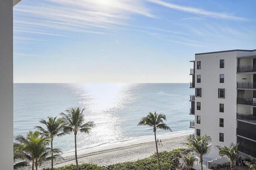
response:
{"label": "long thin white cloud streak slanting across the upper right sky", "polygon": [[166,6],[168,8],[172,8],[174,10],[179,10],[179,11],[188,12],[188,13],[192,13],[192,14],[204,15],[204,16],[209,16],[209,17],[214,17],[214,18],[231,19],[231,20],[243,20],[243,21],[248,20],[247,18],[233,16],[232,14],[206,11],[206,10],[203,10],[200,8],[192,8],[192,7],[188,7],[188,6],[180,6],[177,4],[164,2],[162,0],[148,0],[148,1],[153,2],[155,4]]}

